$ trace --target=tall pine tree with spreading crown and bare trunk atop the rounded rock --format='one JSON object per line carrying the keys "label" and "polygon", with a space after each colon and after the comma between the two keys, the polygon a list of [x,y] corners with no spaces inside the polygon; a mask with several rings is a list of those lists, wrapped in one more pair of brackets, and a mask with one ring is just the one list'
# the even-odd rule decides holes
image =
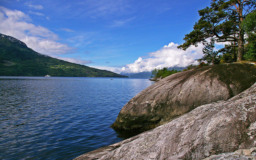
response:
{"label": "tall pine tree with spreading crown and bare trunk atop the rounded rock", "polygon": [[242,22],[255,8],[256,0],[212,0],[210,7],[198,11],[201,18],[178,48],[186,50],[191,45],[205,44],[211,38],[215,42],[230,42],[225,48],[236,46],[237,60],[241,61],[244,54]]}

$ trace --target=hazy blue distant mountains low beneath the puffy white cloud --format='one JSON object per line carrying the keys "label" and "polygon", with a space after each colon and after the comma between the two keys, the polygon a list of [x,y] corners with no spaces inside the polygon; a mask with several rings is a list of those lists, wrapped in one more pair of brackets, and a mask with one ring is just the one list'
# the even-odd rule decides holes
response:
{"label": "hazy blue distant mountains low beneath the puffy white cloud", "polygon": [[[177,71],[182,71],[183,69],[185,69],[187,67],[177,67],[177,66],[173,66],[173,67],[169,67],[168,70],[177,70]],[[128,76],[129,78],[151,78],[152,76],[152,71],[151,72],[140,72],[140,73],[120,73],[121,75],[125,75]]]}

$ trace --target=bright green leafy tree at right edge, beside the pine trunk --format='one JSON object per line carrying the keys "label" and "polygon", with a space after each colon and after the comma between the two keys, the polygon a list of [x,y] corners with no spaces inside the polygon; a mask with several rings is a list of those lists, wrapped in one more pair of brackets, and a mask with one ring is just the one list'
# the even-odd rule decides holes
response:
{"label": "bright green leafy tree at right edge, beside the pine trunk", "polygon": [[243,21],[243,29],[247,37],[245,41],[245,60],[256,61],[256,11],[249,13]]}

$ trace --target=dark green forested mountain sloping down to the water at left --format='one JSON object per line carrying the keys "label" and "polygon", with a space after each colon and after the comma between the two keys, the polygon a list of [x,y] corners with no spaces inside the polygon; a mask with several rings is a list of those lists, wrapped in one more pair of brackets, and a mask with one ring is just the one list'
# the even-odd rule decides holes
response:
{"label": "dark green forested mountain sloping down to the water at left", "polygon": [[16,38],[0,33],[0,76],[127,77],[49,57]]}

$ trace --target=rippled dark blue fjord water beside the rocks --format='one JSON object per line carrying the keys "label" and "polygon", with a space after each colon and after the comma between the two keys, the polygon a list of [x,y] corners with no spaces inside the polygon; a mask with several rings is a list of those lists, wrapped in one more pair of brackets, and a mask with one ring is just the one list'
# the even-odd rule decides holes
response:
{"label": "rippled dark blue fjord water beside the rocks", "polygon": [[121,141],[109,126],[154,82],[113,79],[0,77],[0,159],[70,160]]}

